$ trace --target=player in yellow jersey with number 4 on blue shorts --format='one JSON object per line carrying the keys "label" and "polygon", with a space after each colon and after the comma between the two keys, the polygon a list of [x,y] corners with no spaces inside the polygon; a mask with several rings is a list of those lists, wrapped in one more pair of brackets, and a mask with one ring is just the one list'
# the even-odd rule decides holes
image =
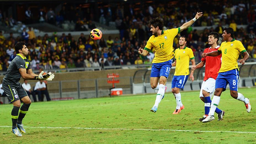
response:
{"label": "player in yellow jersey with number 4 on blue shorts", "polygon": [[[184,109],[184,105],[181,102],[180,89],[183,89],[189,74],[189,61],[191,60],[192,65],[196,65],[194,54],[192,49],[186,47],[186,37],[181,36],[179,40],[180,47],[175,50],[175,62],[172,66],[176,66],[174,76],[172,78],[172,93],[176,99],[176,109],[172,114],[178,114]],[[194,71],[191,71],[189,79],[194,81]]]}

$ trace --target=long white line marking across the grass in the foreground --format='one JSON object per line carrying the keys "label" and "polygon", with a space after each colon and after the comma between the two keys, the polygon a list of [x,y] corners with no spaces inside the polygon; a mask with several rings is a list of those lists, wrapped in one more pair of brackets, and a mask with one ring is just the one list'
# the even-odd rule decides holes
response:
{"label": "long white line marking across the grass in the foreground", "polygon": [[[11,126],[0,126],[11,127]],[[178,129],[123,129],[123,128],[91,128],[91,127],[25,127],[25,128],[41,128],[41,129],[96,129],[96,130],[152,130],[152,131],[176,131],[176,132],[228,132],[228,133],[244,133],[256,134],[256,132],[236,132],[236,131],[208,131],[208,130],[178,130]]]}

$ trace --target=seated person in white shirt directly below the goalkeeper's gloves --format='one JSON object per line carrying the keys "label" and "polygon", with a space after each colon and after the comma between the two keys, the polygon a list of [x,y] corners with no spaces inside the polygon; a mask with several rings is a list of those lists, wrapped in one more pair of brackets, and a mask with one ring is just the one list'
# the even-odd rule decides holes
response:
{"label": "seated person in white shirt directly below the goalkeeper's gloves", "polygon": [[[34,87],[34,91],[32,92],[33,98],[36,98],[36,94],[38,95],[38,101],[44,101],[44,97],[42,97],[43,94],[46,96],[47,101],[51,100],[49,93],[46,89],[46,84],[42,80],[36,82],[36,86]],[[34,102],[36,101],[34,100]]]}

